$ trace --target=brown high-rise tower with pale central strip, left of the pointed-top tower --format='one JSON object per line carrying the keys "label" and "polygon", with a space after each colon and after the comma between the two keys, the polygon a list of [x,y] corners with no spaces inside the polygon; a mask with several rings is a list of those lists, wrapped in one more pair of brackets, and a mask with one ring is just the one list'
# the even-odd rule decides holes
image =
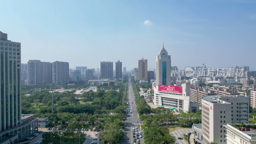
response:
{"label": "brown high-rise tower with pale central strip, left of the pointed-top tower", "polygon": [[142,58],[138,61],[139,80],[148,80],[148,60]]}

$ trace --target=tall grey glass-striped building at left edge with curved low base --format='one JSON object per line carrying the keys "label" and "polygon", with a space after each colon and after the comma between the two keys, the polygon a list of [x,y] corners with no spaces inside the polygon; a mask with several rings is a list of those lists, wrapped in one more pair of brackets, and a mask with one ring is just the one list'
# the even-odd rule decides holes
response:
{"label": "tall grey glass-striped building at left edge with curved low base", "polygon": [[21,44],[8,40],[7,34],[0,31],[0,141],[3,144],[26,139],[38,127],[34,115],[21,116],[20,52]]}

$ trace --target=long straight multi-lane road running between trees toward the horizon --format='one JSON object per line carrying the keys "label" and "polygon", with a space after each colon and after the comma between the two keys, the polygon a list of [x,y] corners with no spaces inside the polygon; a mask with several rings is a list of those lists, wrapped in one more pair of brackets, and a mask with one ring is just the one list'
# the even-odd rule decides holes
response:
{"label": "long straight multi-lane road running between trees toward the horizon", "polygon": [[[138,128],[138,132],[141,131],[142,132],[142,136],[144,134],[143,130],[140,130],[140,126],[138,126],[140,124],[140,119],[137,113],[137,105],[135,103],[135,97],[134,97],[134,93],[132,90],[132,84],[128,83],[128,91],[127,91],[128,97],[126,99],[126,102],[128,101],[130,104],[130,109],[133,111],[131,114],[129,114],[127,116],[127,121],[125,121],[125,135],[124,135],[124,140],[122,141],[123,144],[133,144],[133,132],[132,132],[132,128],[137,127]],[[125,109],[126,110],[126,109]],[[136,132],[135,132],[135,136],[136,136]],[[137,138],[137,136],[136,136]],[[140,138],[140,143],[144,144],[144,137]],[[136,140],[136,144],[137,144],[137,140]]]}

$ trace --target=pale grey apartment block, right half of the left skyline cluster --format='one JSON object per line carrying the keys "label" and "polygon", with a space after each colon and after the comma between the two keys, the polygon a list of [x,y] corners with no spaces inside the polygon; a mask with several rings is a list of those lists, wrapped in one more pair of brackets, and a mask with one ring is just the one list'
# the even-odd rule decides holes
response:
{"label": "pale grey apartment block, right half of the left skyline cluster", "polygon": [[67,83],[69,80],[69,63],[62,61],[52,62],[52,80],[54,84]]}

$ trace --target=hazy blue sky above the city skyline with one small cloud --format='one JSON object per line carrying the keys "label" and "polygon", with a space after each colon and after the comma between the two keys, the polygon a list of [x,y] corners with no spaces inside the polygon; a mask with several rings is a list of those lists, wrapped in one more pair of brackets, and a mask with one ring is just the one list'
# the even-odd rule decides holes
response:
{"label": "hazy blue sky above the city skyline with one small cloud", "polygon": [[254,0],[10,0],[1,5],[0,31],[21,42],[22,63],[58,60],[70,68],[100,68],[100,61],[120,60],[130,70],[144,57],[149,69],[164,43],[179,69],[202,63],[256,69]]}

